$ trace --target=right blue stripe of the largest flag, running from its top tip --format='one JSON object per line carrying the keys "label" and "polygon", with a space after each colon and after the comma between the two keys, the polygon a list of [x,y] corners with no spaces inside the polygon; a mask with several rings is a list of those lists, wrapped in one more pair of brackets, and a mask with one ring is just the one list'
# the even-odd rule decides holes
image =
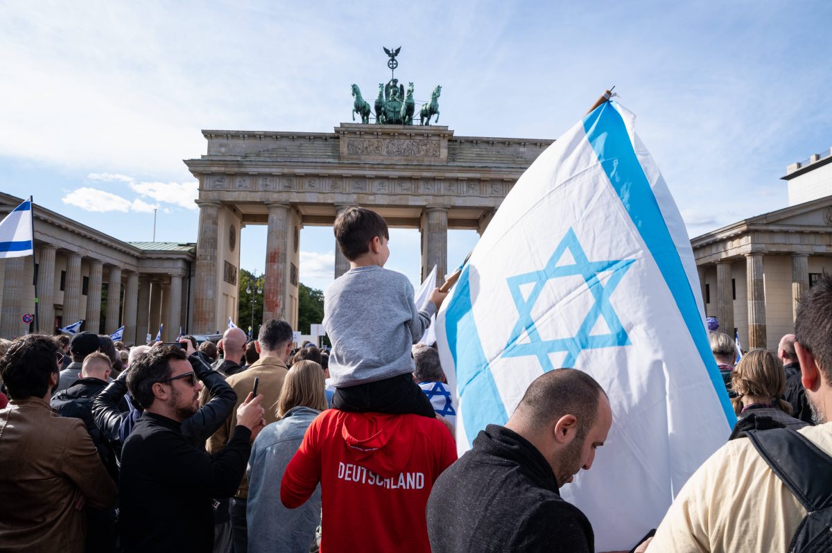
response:
{"label": "right blue stripe of the largest flag, running from its top tip", "polygon": [[[665,219],[661,215],[656,196],[653,195],[650,183],[638,162],[621,114],[610,102],[606,102],[583,118],[583,128],[612,188],[616,190],[633,225],[656,260],[661,275],[671,290],[673,299],[676,300],[676,307],[685,320],[688,332],[691,333],[691,339],[702,358],[702,363],[705,363],[726,419],[734,426],[736,415],[730,405],[719,368],[716,367],[716,361],[711,354],[711,346],[706,339],[699,308],[696,307],[691,281],[688,280],[685,268],[681,264],[676,244],[673,243],[670,230],[667,229]],[[617,157],[605,159],[605,151],[615,152]]]}

